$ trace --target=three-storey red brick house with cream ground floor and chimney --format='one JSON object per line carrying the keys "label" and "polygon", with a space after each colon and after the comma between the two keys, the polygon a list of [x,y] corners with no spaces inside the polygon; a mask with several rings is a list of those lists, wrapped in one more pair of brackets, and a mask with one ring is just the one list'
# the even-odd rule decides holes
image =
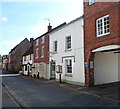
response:
{"label": "three-storey red brick house with cream ground floor and chimney", "polygon": [[53,29],[52,26],[50,26],[49,24],[48,31],[34,40],[34,60],[32,76],[49,79],[49,33],[65,24],[66,23],[63,23]]}

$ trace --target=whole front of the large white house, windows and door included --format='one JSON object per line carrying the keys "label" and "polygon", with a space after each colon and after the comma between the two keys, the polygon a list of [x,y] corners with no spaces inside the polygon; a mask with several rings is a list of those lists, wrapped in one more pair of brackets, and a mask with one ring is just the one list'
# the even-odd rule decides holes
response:
{"label": "whole front of the large white house, windows and door included", "polygon": [[[50,34],[50,78],[85,85],[83,16]],[[59,71],[61,70],[61,71]]]}

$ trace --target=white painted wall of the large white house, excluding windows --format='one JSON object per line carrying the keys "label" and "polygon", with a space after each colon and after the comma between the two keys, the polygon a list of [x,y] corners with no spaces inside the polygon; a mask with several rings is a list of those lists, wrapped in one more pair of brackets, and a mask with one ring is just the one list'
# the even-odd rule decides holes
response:
{"label": "white painted wall of the large white house, excluding windows", "polygon": [[[65,37],[71,35],[72,40],[72,50],[65,51]],[[83,19],[79,19],[58,31],[55,31],[50,34],[50,52],[53,52],[53,42],[58,42],[58,52],[56,54],[50,54],[50,61],[51,59],[56,61],[56,65],[62,65],[63,73],[62,79],[73,81],[73,82],[81,82],[85,83],[85,75],[84,75],[84,42],[83,42]],[[71,56],[69,57],[74,62],[73,64],[73,73],[72,77],[65,76],[65,59],[62,57]],[[72,57],[74,56],[74,57]],[[56,74],[57,79],[59,75]]]}

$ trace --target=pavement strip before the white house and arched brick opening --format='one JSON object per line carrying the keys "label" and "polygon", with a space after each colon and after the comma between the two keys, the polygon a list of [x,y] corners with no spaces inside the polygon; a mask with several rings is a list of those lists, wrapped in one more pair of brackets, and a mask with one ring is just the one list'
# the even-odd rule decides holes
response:
{"label": "pavement strip before the white house and arched brick opening", "polygon": [[82,93],[90,94],[93,96],[101,97],[104,99],[109,99],[111,101],[116,101],[120,103],[120,82],[114,82],[103,85],[96,85],[92,87],[83,87],[79,85],[71,85],[67,83],[60,83],[55,80],[48,81],[54,85],[59,85],[61,87],[66,87],[73,90],[78,90]]}

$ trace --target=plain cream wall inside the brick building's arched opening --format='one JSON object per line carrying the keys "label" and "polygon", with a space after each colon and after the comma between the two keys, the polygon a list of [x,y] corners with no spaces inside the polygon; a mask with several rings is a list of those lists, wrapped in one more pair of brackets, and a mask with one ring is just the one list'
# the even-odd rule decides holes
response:
{"label": "plain cream wall inside the brick building's arched opening", "polygon": [[94,59],[94,84],[118,81],[118,53],[97,52]]}

